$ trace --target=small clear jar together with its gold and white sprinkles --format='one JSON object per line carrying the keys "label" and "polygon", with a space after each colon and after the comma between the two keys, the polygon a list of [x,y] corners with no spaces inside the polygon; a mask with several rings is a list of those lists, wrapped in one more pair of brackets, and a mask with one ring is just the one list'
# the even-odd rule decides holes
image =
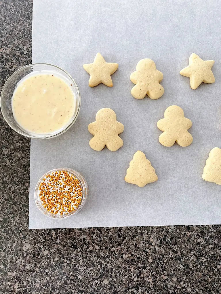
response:
{"label": "small clear jar together with its gold and white sprinkles", "polygon": [[65,219],[78,213],[87,197],[85,178],[70,168],[56,168],[45,173],[34,191],[39,210],[54,219]]}

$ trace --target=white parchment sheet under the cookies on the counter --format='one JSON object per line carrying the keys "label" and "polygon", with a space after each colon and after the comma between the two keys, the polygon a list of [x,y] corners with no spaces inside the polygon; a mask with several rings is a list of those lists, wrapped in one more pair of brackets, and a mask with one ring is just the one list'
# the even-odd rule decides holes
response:
{"label": "white parchment sheet under the cookies on the counter", "polygon": [[[69,72],[80,89],[76,123],[65,134],[31,140],[29,228],[147,226],[221,223],[221,186],[202,180],[210,150],[221,147],[221,1],[34,0],[32,62],[55,64]],[[97,52],[119,64],[113,88],[90,88],[82,65]],[[179,71],[191,53],[215,60],[214,84],[192,90]],[[164,74],[158,100],[131,96],[131,72],[150,58]],[[162,146],[156,123],[165,109],[179,105],[192,121],[193,143]],[[124,124],[124,145],[116,152],[90,148],[88,124],[103,107]],[[124,181],[133,154],[141,150],[158,181],[139,188]],[[86,178],[89,198],[76,216],[51,220],[34,203],[42,174],[74,168]]]}

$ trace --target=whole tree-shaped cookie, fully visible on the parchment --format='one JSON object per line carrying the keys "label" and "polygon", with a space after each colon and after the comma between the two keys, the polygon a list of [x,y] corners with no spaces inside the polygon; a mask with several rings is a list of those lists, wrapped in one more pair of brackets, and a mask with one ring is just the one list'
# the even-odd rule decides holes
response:
{"label": "whole tree-shaped cookie, fully visible on the parchment", "polygon": [[145,154],[138,150],[130,162],[124,179],[127,183],[144,187],[146,184],[156,182],[158,177]]}

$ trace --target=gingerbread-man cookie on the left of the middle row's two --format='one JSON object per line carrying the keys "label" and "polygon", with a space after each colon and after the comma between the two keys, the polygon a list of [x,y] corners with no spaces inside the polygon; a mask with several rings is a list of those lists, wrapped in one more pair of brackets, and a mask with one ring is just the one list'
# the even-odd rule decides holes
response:
{"label": "gingerbread-man cookie on the left of the middle row's two", "polygon": [[112,109],[98,110],[95,121],[88,126],[88,131],[94,135],[90,139],[90,147],[100,151],[106,145],[110,151],[117,151],[123,146],[123,140],[118,136],[123,130],[123,124],[117,121],[116,113]]}

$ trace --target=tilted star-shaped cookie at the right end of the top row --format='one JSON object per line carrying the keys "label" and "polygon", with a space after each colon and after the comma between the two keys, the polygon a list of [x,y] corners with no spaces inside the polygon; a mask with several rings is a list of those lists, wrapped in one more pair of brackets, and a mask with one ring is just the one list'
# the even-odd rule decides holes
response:
{"label": "tilted star-shaped cookie at the right end of the top row", "polygon": [[214,62],[213,60],[202,60],[197,54],[192,53],[189,56],[189,65],[184,67],[179,73],[182,76],[189,77],[190,87],[195,90],[202,82],[207,84],[215,82],[211,70]]}

